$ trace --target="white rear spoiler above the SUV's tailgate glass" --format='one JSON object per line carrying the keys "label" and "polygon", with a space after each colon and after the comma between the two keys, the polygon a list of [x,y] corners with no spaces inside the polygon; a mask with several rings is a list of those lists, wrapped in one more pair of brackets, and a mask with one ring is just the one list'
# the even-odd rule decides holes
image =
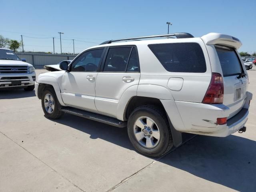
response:
{"label": "white rear spoiler above the SUV's tailgate glass", "polygon": [[208,33],[202,36],[201,39],[204,41],[205,44],[219,44],[229,46],[235,49],[239,49],[242,46],[242,43],[238,38],[220,33]]}

